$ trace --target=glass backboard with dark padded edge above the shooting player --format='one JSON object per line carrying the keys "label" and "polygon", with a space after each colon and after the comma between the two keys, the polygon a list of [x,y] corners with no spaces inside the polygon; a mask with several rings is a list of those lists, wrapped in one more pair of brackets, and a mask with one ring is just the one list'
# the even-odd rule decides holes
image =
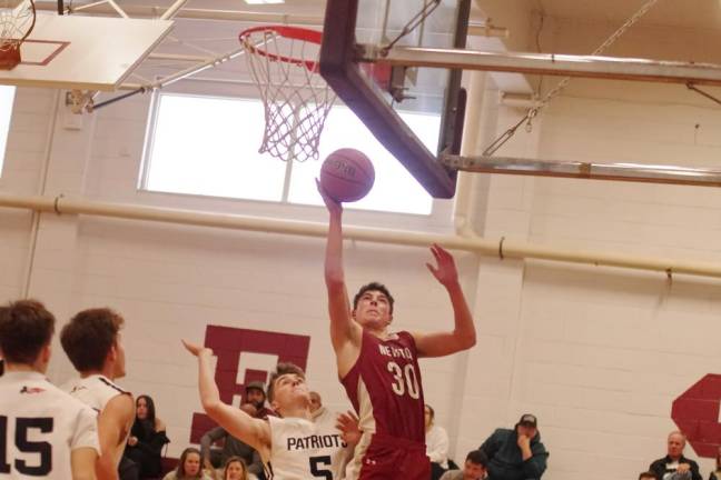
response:
{"label": "glass backboard with dark padded edge above the shooting player", "polygon": [[[455,193],[455,172],[437,160],[457,151],[465,96],[461,71],[358,62],[364,48],[464,48],[471,0],[328,0],[320,73],[374,136],[436,198]],[[418,138],[398,112],[437,119],[437,138]],[[461,112],[461,114],[458,114]],[[407,118],[407,114],[404,114]]]}

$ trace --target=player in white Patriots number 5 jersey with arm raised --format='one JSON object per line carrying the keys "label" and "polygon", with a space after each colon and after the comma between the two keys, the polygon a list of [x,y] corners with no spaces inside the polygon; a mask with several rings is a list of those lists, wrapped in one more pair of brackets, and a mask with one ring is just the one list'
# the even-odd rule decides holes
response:
{"label": "player in white Patriots number 5 jersey with arm raised", "polygon": [[[346,424],[337,428],[312,421],[310,397],[305,373],[293,363],[278,363],[268,380],[268,401],[280,416],[260,420],[220,400],[213,379],[213,350],[184,341],[186,349],[198,358],[198,388],[203,408],[213,420],[233,437],[260,453],[268,479],[338,480],[349,457],[348,442],[357,441]],[[355,438],[353,433],[356,433]]]}

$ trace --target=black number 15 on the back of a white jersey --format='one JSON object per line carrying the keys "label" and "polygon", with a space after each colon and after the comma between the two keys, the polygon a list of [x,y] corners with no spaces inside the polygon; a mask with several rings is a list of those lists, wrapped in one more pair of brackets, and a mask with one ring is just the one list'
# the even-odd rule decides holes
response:
{"label": "black number 15 on the back of a white jersey", "polygon": [[[22,453],[34,453],[39,457],[38,462],[28,462],[16,459],[13,464],[18,473],[30,477],[46,477],[52,471],[52,447],[48,442],[28,440],[31,429],[40,433],[52,432],[51,418],[17,418],[14,446]],[[0,416],[0,473],[10,473],[8,462],[8,417]],[[11,460],[11,459],[10,459]]]}

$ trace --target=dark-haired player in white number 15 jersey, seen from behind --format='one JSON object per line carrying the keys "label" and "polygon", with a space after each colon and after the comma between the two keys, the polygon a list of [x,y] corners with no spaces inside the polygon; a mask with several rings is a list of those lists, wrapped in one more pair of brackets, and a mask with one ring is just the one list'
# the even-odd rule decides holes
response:
{"label": "dark-haired player in white number 15 jersey, seen from behind", "polygon": [[96,478],[96,413],[45,378],[55,321],[33,300],[0,307],[0,479]]}

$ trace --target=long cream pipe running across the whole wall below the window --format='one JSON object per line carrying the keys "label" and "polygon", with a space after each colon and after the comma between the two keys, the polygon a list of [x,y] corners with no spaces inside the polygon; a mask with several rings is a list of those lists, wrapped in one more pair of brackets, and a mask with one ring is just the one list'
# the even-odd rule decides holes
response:
{"label": "long cream pipe running across the whole wall below the window", "polygon": [[[327,234],[327,226],[325,223],[110,203],[82,199],[69,199],[66,197],[23,197],[13,196],[11,193],[0,193],[0,207],[31,209],[45,212],[56,212],[58,214],[90,214],[303,237],[323,238]],[[561,262],[651,270],[664,272],[666,274],[685,273],[721,278],[721,264],[719,263],[670,260],[668,258],[639,257],[600,251],[561,250],[511,239],[490,240],[478,237],[462,238],[457,236],[441,236],[350,226],[344,227],[344,237],[348,240],[414,247],[427,247],[428,244],[436,242],[453,250],[498,256],[501,258],[553,260]]]}

